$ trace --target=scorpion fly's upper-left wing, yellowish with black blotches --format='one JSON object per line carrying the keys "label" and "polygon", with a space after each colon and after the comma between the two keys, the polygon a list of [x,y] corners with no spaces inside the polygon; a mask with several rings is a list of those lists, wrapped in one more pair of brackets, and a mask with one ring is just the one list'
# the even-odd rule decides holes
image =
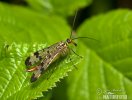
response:
{"label": "scorpion fly's upper-left wing, yellowish with black blotches", "polygon": [[36,51],[31,56],[27,57],[27,59],[25,60],[25,65],[26,66],[33,66],[33,65],[36,65],[38,63],[41,63],[41,60],[45,59],[46,55],[48,55],[49,53],[54,52],[56,47],[58,47],[59,44],[61,44],[61,42],[55,43],[55,44],[53,44],[47,48]]}

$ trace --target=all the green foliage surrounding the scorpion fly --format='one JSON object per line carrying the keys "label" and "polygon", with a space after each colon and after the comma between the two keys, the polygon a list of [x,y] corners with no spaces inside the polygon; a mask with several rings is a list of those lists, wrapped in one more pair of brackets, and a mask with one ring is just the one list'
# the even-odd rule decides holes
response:
{"label": "all the green foliage surrounding the scorpion fly", "polygon": [[[97,100],[107,92],[132,99],[131,10],[110,11],[112,3],[104,0],[101,5],[97,0],[12,0],[8,3],[0,2],[1,100]],[[76,41],[76,52],[83,58],[74,54],[71,57],[78,69],[67,57],[51,65],[37,82],[30,83],[32,73],[25,72],[26,57],[66,40],[71,31],[67,19],[76,9],[84,7],[91,9],[89,12],[82,9],[85,13],[79,11],[77,36],[97,41]]]}

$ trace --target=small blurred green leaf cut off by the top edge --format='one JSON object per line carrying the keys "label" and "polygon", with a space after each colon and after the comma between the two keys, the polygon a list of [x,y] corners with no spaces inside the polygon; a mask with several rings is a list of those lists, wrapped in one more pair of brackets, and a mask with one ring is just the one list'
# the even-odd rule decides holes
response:
{"label": "small blurred green leaf cut off by the top edge", "polygon": [[92,0],[27,0],[27,2],[38,11],[67,16],[78,8],[90,5]]}

